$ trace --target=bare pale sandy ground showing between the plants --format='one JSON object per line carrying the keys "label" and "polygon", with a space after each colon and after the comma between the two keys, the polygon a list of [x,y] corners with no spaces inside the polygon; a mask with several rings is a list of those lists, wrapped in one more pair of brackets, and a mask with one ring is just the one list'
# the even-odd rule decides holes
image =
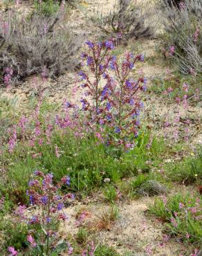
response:
{"label": "bare pale sandy ground showing between the plants", "polygon": [[[101,0],[101,1],[82,1],[82,8],[78,10],[73,10],[72,17],[74,29],[84,33],[84,40],[89,37],[93,37],[93,33],[99,34],[96,28],[92,24],[89,24],[88,16],[93,12],[93,6],[98,6],[98,2],[103,4],[104,12],[108,11],[113,7],[113,1],[111,0]],[[130,46],[133,46],[136,42],[131,42]],[[147,57],[155,57],[156,44],[158,40],[142,40],[138,42],[137,48],[141,53],[145,53]],[[151,80],[154,77],[160,77],[166,73],[166,67],[162,66],[160,62],[154,64],[148,64],[147,62],[139,66],[143,68],[145,77]],[[46,80],[43,81],[40,77],[37,77],[37,84],[45,90],[45,94],[50,100],[50,102],[62,102],[63,100],[72,100],[73,89],[75,88],[75,80],[77,78],[76,73],[66,73],[62,77],[59,77],[57,81]],[[152,85],[150,85],[152,86]],[[12,88],[4,90],[1,93],[1,97],[6,97],[8,99],[17,98],[17,106],[21,109],[26,109],[26,104],[28,98],[33,93],[33,77],[28,78],[23,84]],[[76,91],[74,100],[80,98],[80,92]],[[154,106],[156,109],[154,109]],[[173,106],[174,108],[174,106]],[[154,113],[155,111],[155,113]],[[167,105],[162,104],[162,99],[151,97],[147,106],[148,115],[154,114],[158,118],[163,119],[166,116],[168,109]],[[199,115],[199,109],[194,109],[196,115]],[[158,131],[160,133],[160,131]],[[196,143],[201,140],[201,135],[199,138],[194,138]],[[100,238],[100,242],[105,242],[110,246],[113,246],[118,250],[120,255],[123,255],[126,251],[129,251],[129,255],[183,255],[185,248],[176,239],[165,239],[163,235],[163,225],[160,221],[155,220],[152,217],[147,216],[146,212],[148,205],[153,203],[154,198],[141,198],[134,201],[122,201],[118,203],[118,208],[120,217],[118,221],[114,223],[109,230],[98,231],[96,236]],[[66,208],[66,214],[69,216],[69,220],[66,225],[62,227],[62,232],[66,235],[66,232],[71,232],[75,234],[78,228],[75,226],[75,213],[80,209],[85,209],[90,212],[91,218],[86,218],[84,223],[90,223],[103,211],[109,209],[107,203],[100,203],[100,201],[92,201],[89,199],[86,203],[75,203],[71,207]],[[95,214],[96,212],[96,214]],[[90,224],[89,224],[90,225]]]}

